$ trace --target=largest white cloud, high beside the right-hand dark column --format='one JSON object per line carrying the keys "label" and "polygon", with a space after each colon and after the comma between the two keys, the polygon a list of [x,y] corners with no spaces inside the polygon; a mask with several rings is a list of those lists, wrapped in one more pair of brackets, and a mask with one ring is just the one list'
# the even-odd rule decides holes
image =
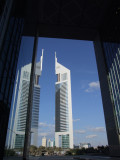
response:
{"label": "largest white cloud, high beside the right-hand dark column", "polygon": [[85,90],[85,92],[93,92],[95,90],[98,90],[100,88],[100,83],[99,81],[96,81],[96,82],[90,82],[88,84],[88,88]]}

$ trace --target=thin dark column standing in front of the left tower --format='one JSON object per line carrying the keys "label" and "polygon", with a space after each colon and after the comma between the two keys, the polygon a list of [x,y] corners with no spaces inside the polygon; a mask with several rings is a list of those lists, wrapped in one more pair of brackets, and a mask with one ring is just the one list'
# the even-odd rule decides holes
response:
{"label": "thin dark column standing in front of the left tower", "polygon": [[30,87],[29,87],[29,97],[28,97],[23,160],[26,160],[29,157],[29,147],[30,147],[30,140],[31,140],[32,103],[33,103],[32,100],[33,100],[33,87],[34,87],[34,80],[35,80],[37,45],[38,45],[38,35],[36,34],[34,38],[32,67],[31,67],[31,75],[30,75]]}

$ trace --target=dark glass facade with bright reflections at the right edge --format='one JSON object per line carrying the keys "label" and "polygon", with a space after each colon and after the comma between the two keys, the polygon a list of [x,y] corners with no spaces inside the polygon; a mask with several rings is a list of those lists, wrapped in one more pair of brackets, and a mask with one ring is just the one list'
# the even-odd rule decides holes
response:
{"label": "dark glass facade with bright reflections at the right edge", "polygon": [[107,76],[118,133],[120,134],[120,44],[104,42]]}

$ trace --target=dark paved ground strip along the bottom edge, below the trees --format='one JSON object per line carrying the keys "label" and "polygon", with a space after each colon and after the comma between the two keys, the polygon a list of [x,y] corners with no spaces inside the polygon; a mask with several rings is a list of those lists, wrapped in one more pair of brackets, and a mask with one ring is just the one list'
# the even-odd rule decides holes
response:
{"label": "dark paved ground strip along the bottom edge, below the trees", "polygon": [[[4,160],[22,160],[22,158],[7,157]],[[29,160],[120,160],[120,157],[104,157],[104,156],[40,156],[40,157],[30,157]]]}

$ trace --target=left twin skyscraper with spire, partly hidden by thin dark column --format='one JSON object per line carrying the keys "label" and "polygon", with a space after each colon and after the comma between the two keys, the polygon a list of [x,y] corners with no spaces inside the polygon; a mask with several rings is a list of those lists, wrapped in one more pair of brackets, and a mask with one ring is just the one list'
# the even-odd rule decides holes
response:
{"label": "left twin skyscraper with spire, partly hidden by thin dark column", "polygon": [[[37,137],[38,137],[39,103],[40,103],[39,77],[42,72],[42,62],[43,62],[43,51],[40,62],[36,63],[35,82],[33,88],[31,144],[35,146],[37,146]],[[31,63],[21,68],[16,115],[13,127],[14,134],[12,134],[11,143],[8,142],[10,148],[24,147],[30,74],[31,74]],[[10,141],[10,139],[8,139],[8,141]]]}

